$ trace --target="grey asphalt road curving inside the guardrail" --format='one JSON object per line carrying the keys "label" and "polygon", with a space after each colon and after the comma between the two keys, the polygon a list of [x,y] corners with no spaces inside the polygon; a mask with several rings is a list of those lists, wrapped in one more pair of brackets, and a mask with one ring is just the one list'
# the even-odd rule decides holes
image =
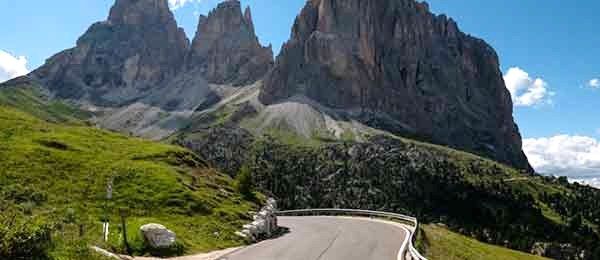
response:
{"label": "grey asphalt road curving inside the guardrail", "polygon": [[407,239],[400,227],[338,217],[279,217],[289,233],[221,260],[396,260]]}

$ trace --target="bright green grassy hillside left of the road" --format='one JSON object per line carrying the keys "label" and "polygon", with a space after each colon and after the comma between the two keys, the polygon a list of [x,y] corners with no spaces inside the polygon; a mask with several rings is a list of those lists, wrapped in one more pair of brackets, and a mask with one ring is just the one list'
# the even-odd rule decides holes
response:
{"label": "bright green grassy hillside left of the road", "polygon": [[56,259],[72,259],[78,241],[100,243],[101,219],[112,223],[104,246],[123,252],[121,213],[137,254],[145,253],[137,230],[150,222],[175,231],[186,253],[239,245],[234,232],[256,207],[232,179],[183,148],[49,123],[6,107],[0,107],[0,173],[2,212],[50,223]]}

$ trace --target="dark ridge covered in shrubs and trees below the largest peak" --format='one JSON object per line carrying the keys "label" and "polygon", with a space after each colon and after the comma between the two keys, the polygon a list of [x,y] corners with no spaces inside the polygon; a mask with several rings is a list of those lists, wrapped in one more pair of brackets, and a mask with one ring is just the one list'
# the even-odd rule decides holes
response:
{"label": "dark ridge covered in shrubs and trees below the largest peak", "polygon": [[306,145],[310,140],[272,133],[253,135],[232,121],[183,131],[175,142],[232,175],[250,167],[261,191],[284,209],[399,212],[524,252],[543,243],[572,255],[585,251],[585,259],[600,256],[600,210],[589,207],[597,204],[596,189],[396,136]]}

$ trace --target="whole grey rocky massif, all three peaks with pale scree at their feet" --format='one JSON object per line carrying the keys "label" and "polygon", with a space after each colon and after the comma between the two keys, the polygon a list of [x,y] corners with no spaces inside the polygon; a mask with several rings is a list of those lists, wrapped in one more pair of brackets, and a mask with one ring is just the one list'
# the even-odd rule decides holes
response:
{"label": "whole grey rocky massif, all three peaks with pale scree at their feet", "polygon": [[273,64],[237,0],[201,16],[191,44],[167,1],[118,0],[30,78],[103,112],[99,125],[152,139],[254,84],[245,101],[257,113],[244,126],[255,134],[364,140],[384,131],[532,171],[496,53],[426,3],[308,1]]}

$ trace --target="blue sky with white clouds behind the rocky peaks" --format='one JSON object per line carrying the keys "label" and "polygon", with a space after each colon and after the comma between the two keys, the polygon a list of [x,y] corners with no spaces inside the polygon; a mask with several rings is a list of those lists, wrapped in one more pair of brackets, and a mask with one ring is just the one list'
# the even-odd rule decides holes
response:
{"label": "blue sky with white clouds behind the rocky peaks", "polygon": [[[174,12],[190,38],[196,30],[197,15],[207,13],[218,3],[170,1],[185,2]],[[433,12],[454,18],[462,31],[485,39],[498,52],[502,71],[510,75],[507,85],[512,82],[516,89],[515,103],[521,103],[515,106],[515,118],[536,169],[586,178],[600,176],[600,81],[595,89],[589,86],[591,80],[600,78],[600,35],[596,29],[600,2],[428,2]],[[17,58],[4,67],[18,66],[26,59],[31,70],[52,54],[72,47],[89,25],[106,18],[112,3],[113,0],[0,0],[0,50]],[[304,3],[305,0],[242,0],[244,6],[252,8],[261,42],[272,43],[275,53],[288,39],[293,20]],[[24,57],[19,60],[19,56]],[[0,63],[3,60],[7,57],[0,53]],[[0,72],[0,81],[1,77]],[[600,179],[597,181],[600,183]]]}

